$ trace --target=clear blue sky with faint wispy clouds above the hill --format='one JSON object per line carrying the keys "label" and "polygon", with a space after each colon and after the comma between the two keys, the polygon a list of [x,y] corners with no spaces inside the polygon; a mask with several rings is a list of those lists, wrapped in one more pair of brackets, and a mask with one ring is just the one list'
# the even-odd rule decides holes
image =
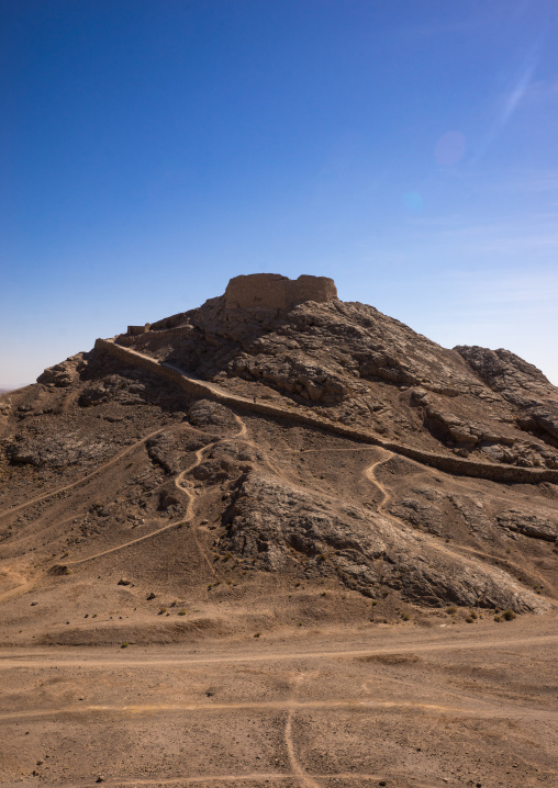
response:
{"label": "clear blue sky with faint wispy clouds above the hill", "polygon": [[555,0],[0,2],[0,385],[238,273],[558,384]]}

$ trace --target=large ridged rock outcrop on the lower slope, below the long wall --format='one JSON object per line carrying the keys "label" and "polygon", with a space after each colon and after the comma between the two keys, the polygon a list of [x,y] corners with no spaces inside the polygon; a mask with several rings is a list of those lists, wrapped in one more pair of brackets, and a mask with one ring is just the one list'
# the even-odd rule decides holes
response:
{"label": "large ridged rock outcrop on the lower slope, below the long wall", "polygon": [[298,561],[306,576],[337,575],[370,597],[384,585],[434,606],[548,609],[545,600],[494,566],[468,561],[382,515],[271,476],[249,473],[230,517],[224,543],[269,571]]}

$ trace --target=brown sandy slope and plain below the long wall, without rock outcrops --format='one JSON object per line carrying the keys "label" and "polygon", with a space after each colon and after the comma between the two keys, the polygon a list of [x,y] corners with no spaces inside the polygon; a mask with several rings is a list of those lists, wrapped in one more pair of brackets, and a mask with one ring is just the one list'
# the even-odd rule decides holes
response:
{"label": "brown sandy slope and plain below the long wall, without rock outcrops", "polygon": [[[512,506],[554,516],[553,485],[451,477],[256,416],[200,426],[149,405],[63,405],[65,429],[107,454],[2,470],[1,786],[558,786],[558,548],[495,520]],[[36,425],[56,437],[56,418]],[[148,451],[163,430],[166,471]],[[228,475],[201,476],[225,449]],[[332,508],[415,529],[464,573],[504,570],[550,611],[495,621],[387,586],[371,599],[304,555],[260,571],[223,547],[244,451]],[[393,514],[409,496],[418,524]]]}

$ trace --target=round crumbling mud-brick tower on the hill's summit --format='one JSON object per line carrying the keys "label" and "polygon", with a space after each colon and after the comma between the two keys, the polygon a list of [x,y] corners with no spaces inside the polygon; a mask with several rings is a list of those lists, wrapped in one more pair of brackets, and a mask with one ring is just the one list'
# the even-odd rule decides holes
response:
{"label": "round crumbling mud-brick tower on the hill's summit", "polygon": [[288,309],[300,301],[324,303],[337,297],[337,288],[328,277],[302,274],[289,279],[280,273],[250,273],[234,277],[225,290],[227,309]]}

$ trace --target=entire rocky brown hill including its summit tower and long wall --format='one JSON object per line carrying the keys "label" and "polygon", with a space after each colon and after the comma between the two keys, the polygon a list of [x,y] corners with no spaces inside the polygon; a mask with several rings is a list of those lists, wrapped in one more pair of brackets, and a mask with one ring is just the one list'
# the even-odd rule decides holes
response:
{"label": "entire rocky brown hill including its summit tower and long wall", "polygon": [[0,439],[10,643],[555,604],[558,390],[326,278],[98,340],[0,396]]}

